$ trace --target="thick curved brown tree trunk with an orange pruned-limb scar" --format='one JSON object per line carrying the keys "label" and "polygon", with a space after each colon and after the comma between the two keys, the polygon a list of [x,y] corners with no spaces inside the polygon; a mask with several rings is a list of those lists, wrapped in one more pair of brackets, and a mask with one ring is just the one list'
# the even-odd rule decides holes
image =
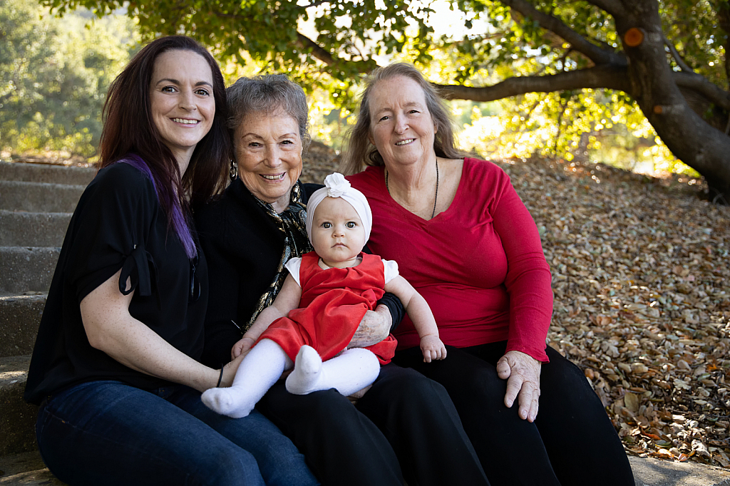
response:
{"label": "thick curved brown tree trunk with an orange pruned-limb scar", "polygon": [[643,34],[636,47],[623,45],[632,95],[669,150],[707,180],[710,200],[730,204],[730,136],[697,115],[672,80],[657,1],[621,3],[626,14],[615,16],[621,39],[630,28]]}

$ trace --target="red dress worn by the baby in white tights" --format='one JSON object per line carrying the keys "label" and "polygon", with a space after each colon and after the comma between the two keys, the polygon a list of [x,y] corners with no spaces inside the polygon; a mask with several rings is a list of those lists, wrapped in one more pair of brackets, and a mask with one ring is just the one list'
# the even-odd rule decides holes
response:
{"label": "red dress worn by the baby in white tights", "polygon": [[[377,255],[361,253],[361,263],[345,269],[320,268],[315,252],[301,256],[299,308],[288,317],[274,320],[258,339],[279,344],[291,360],[304,344],[313,347],[323,361],[345,350],[365,312],[373,310],[383,297],[385,273]],[[368,346],[380,360],[390,363],[396,352],[396,339],[390,335]]]}

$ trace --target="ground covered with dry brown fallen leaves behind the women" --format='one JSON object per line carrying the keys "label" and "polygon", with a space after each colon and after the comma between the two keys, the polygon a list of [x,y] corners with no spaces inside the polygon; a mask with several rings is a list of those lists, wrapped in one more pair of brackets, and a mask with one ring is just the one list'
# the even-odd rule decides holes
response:
{"label": "ground covered with dry brown fallen leaves behind the women", "polygon": [[[337,169],[312,147],[303,179]],[[548,344],[583,369],[630,454],[730,467],[730,207],[600,164],[497,161],[534,217]]]}

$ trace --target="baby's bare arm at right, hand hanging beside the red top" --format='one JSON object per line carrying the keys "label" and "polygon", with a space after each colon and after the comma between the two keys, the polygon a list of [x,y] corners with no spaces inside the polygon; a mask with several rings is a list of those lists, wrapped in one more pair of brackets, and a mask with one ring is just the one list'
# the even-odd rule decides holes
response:
{"label": "baby's bare arm at right, hand hanging beside the red top", "polygon": [[431,363],[431,360],[446,358],[446,347],[439,339],[439,328],[426,299],[400,275],[385,284],[385,291],[394,293],[401,299],[413,327],[420,336],[420,350],[423,352],[423,360],[426,363]]}

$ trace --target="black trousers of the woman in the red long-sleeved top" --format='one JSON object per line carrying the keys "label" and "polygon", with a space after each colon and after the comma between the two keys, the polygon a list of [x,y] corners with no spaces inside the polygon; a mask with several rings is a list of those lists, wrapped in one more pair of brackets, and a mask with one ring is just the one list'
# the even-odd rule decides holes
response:
{"label": "black trousers of the woman in the red long-sleeved top", "polygon": [[506,342],[455,348],[423,363],[417,347],[393,362],[444,385],[492,486],[634,486],[629,459],[583,372],[553,348],[540,371],[534,423],[518,402],[504,405],[507,380],[496,373]]}

